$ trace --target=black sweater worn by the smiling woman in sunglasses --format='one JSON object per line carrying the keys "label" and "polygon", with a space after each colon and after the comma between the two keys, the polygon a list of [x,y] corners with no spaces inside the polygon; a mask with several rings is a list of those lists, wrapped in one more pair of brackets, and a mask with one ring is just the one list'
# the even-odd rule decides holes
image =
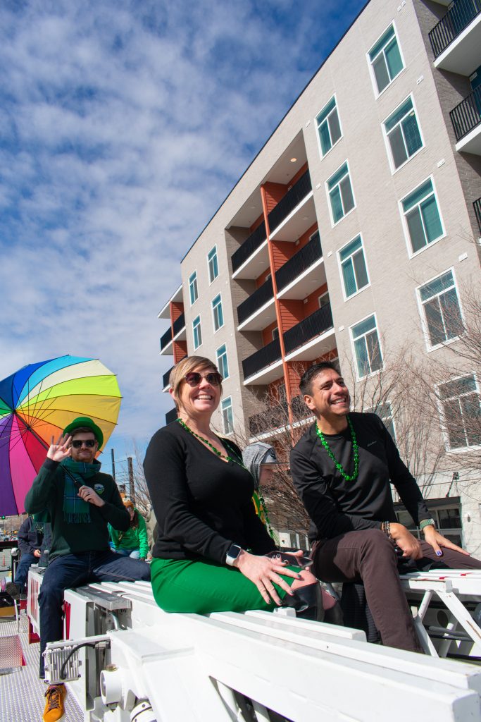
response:
{"label": "black sweater worn by the smiling woman in sunglasses", "polygon": [[[242,459],[239,448],[221,439]],[[265,554],[275,549],[252,503],[254,481],[246,469],[222,461],[172,423],[159,429],[146,451],[144,471],[159,535],[153,556],[225,563],[231,544]]]}

